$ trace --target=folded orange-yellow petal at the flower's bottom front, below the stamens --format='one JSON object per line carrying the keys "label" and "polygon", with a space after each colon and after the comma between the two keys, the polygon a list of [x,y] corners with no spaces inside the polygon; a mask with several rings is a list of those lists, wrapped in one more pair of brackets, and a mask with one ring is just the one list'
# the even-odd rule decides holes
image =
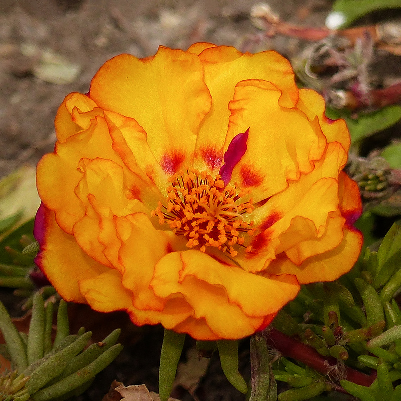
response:
{"label": "folded orange-yellow petal at the flower's bottom front, below the stamens", "polygon": [[[185,327],[185,331],[196,332],[199,338],[198,327],[205,322],[214,337],[203,339],[241,338],[252,334],[263,324],[266,315],[275,314],[299,290],[294,277],[275,281],[192,250],[162,258],[156,265],[151,287],[162,298],[181,294],[194,314],[174,330]],[[191,328],[194,319],[197,322]]]}

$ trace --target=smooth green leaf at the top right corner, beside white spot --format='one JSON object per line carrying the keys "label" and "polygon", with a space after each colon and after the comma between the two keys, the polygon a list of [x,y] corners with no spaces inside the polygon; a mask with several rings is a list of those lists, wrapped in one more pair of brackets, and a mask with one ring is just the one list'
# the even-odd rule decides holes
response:
{"label": "smooth green leaf at the top right corner, beside white spot", "polygon": [[344,28],[364,15],[377,10],[401,8],[401,0],[337,0],[333,11],[344,15],[344,22],[338,28]]}

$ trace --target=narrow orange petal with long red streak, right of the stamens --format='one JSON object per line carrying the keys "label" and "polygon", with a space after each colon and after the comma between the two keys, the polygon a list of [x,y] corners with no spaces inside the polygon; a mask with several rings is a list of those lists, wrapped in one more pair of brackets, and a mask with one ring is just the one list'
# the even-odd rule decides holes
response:
{"label": "narrow orange petal with long red streak, right of the stamens", "polygon": [[290,228],[297,216],[313,222],[316,232],[326,230],[329,213],[339,207],[338,174],[346,159],[345,150],[339,143],[328,144],[313,171],[301,174],[297,181],[289,181],[284,191],[255,208],[251,218],[257,231],[249,241],[252,250],[236,257],[245,270],[261,271],[275,259],[279,246],[282,247],[280,252],[290,248],[279,236]]}

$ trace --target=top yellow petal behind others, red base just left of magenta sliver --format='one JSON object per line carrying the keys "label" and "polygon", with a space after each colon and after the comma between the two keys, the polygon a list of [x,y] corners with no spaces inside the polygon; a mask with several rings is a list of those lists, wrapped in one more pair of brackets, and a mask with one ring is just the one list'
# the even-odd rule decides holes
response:
{"label": "top yellow petal behind others, red base just left of magenta sliver", "polygon": [[[213,166],[217,164],[214,160],[218,160],[223,154],[222,144],[230,117],[228,105],[233,99],[235,86],[240,81],[256,79],[271,82],[282,91],[279,103],[285,107],[292,107],[297,102],[298,88],[288,60],[273,51],[242,54],[230,46],[215,46],[204,49],[199,58],[212,96],[212,108],[200,127],[195,167],[213,170]],[[247,128],[248,126],[237,134],[245,132]]]}

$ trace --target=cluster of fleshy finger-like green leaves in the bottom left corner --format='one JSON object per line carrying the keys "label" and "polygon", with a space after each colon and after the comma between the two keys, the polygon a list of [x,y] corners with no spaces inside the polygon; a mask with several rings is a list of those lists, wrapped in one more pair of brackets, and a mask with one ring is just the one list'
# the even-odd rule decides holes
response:
{"label": "cluster of fleshy finger-like green leaves in the bottom left corner", "polygon": [[70,335],[66,303],[58,310],[58,342],[51,347],[53,306],[46,307],[42,296],[33,297],[32,317],[26,338],[18,333],[9,314],[0,303],[0,330],[6,340],[15,370],[0,377],[0,400],[50,401],[78,395],[92,382],[97,373],[120,353],[116,344],[120,330],[113,331],[102,342],[85,350],[92,333],[81,330]]}

